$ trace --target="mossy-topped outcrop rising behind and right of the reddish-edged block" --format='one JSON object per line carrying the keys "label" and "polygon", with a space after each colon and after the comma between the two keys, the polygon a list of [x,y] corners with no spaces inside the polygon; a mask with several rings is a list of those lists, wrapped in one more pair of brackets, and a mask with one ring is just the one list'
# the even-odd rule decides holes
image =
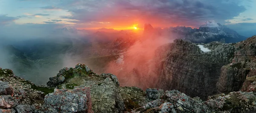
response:
{"label": "mossy-topped outcrop rising behind and right of the reddish-edged block", "polygon": [[[63,82],[56,81],[64,76]],[[78,64],[76,68],[64,68],[57,76],[47,82],[49,87],[73,89],[76,86],[90,88],[92,110],[95,113],[119,113],[125,109],[119,94],[119,82],[115,75],[103,73],[98,75],[86,65]]]}

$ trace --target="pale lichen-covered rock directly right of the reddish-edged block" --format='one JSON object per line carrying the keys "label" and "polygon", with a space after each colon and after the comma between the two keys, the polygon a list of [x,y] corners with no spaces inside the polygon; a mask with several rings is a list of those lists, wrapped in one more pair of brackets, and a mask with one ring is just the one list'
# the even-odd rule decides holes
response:
{"label": "pale lichen-covered rock directly right of the reddish-edged block", "polygon": [[90,87],[95,113],[119,113],[125,109],[119,86],[110,77],[103,81],[84,81],[84,86]]}

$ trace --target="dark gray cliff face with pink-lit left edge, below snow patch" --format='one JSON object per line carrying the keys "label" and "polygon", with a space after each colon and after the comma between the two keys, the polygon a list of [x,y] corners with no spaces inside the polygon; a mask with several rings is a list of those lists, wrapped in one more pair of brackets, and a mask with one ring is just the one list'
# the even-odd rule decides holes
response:
{"label": "dark gray cliff face with pink-lit left edge, below snow patch", "polygon": [[157,74],[159,81],[157,88],[177,89],[190,96],[207,96],[217,93],[216,82],[221,73],[221,67],[231,62],[234,47],[232,44],[212,42],[208,46],[215,46],[214,50],[203,52],[198,45],[175,40],[165,45],[166,51],[159,51],[164,56],[158,61]]}

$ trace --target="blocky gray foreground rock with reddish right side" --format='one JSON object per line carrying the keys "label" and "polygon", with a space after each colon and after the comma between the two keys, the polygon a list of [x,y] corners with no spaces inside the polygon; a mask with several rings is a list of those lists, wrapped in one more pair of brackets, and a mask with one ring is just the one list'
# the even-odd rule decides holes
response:
{"label": "blocky gray foreground rock with reddish right side", "polygon": [[45,96],[44,107],[47,112],[51,113],[92,113],[90,88],[55,89],[54,93],[49,93]]}

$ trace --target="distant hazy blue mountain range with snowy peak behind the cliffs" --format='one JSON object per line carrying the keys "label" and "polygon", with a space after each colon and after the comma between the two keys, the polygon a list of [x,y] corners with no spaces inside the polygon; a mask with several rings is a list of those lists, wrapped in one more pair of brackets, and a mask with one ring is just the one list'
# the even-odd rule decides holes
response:
{"label": "distant hazy blue mountain range with snowy peak behind the cliffs", "polygon": [[223,39],[225,39],[226,43],[230,43],[246,39],[246,37],[241,36],[236,31],[214,21],[207,21],[200,28],[177,26],[167,29],[157,29],[157,32],[160,35],[167,35],[174,39],[189,40],[194,43],[209,43]]}

